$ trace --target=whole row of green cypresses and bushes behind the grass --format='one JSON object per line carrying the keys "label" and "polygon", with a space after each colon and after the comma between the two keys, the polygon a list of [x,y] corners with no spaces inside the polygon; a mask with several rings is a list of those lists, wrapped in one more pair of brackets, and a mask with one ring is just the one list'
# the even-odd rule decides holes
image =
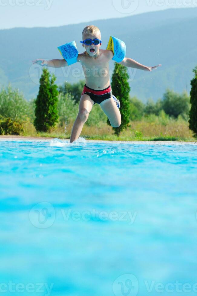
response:
{"label": "whole row of green cypresses and bushes behind the grass", "polygon": [[[190,96],[186,91],[179,94],[167,89],[162,99],[159,98],[156,102],[148,99],[144,104],[136,97],[130,98],[127,68],[115,63],[111,86],[113,94],[121,103],[121,125],[113,128],[115,134],[120,135],[121,130],[126,129],[130,121],[140,120],[150,114],[159,115],[164,111],[170,117],[177,118],[181,115],[183,119],[189,121],[189,128],[197,136],[197,66],[193,72],[195,75],[191,80]],[[85,82],[82,80],[74,84],[65,82],[58,87],[55,80],[54,74],[51,75],[44,67],[37,98],[30,102],[22,98],[18,91],[12,90],[10,85],[7,91],[3,88],[0,92],[0,134],[6,130],[10,133],[12,129],[15,132],[17,127],[22,128],[21,120],[24,120],[25,116],[33,119],[37,131],[45,132],[50,131],[57,122],[64,124],[67,109],[70,113],[76,113]],[[110,124],[109,120],[107,123]]]}

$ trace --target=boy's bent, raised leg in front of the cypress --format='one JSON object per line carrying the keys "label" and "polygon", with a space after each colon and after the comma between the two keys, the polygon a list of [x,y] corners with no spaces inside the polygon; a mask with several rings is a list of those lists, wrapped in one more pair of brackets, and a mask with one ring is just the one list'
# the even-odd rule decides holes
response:
{"label": "boy's bent, raised leg in front of the cypress", "polygon": [[119,127],[121,124],[121,114],[113,97],[102,101],[100,107],[109,118],[111,126]]}

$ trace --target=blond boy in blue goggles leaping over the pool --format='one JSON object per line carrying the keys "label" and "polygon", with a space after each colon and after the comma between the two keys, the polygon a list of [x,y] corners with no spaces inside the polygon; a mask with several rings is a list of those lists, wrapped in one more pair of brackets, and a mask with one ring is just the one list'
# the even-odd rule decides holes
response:
{"label": "blond boy in blue goggles leaping over the pool", "polygon": [[[70,143],[77,140],[80,136],[84,123],[87,121],[88,115],[95,103],[100,104],[113,127],[119,127],[121,124],[120,102],[112,95],[109,76],[109,61],[114,56],[113,51],[100,49],[101,34],[98,27],[93,25],[85,27],[82,32],[82,38],[83,41],[91,39],[93,42],[90,45],[83,43],[82,46],[85,47],[85,51],[79,53],[77,57],[77,62],[82,65],[86,82],[80,98],[79,113],[72,127]],[[99,40],[99,42],[96,41],[98,44],[95,44],[94,40]],[[46,64],[49,67],[68,66],[67,61],[64,59],[49,61],[37,59],[33,63]],[[152,71],[152,69],[161,66],[159,64],[154,67],[147,67],[126,57],[120,64],[146,71]]]}

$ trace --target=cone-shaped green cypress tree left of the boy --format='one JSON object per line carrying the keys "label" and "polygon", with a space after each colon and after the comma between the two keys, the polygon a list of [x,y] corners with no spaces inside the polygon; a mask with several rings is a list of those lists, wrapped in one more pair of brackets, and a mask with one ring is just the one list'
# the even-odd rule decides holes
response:
{"label": "cone-shaped green cypress tree left of the boy", "polygon": [[47,68],[43,68],[40,78],[40,88],[35,101],[35,120],[34,126],[37,131],[48,131],[55,126],[58,121],[57,103],[58,90],[55,82],[55,75],[50,73]]}

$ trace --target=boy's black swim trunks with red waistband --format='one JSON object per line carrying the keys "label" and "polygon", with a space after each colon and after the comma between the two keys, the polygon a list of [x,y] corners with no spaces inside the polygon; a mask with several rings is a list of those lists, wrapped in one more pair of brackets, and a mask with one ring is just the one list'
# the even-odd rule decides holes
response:
{"label": "boy's black swim trunks with red waistband", "polygon": [[102,90],[95,90],[95,89],[89,88],[85,84],[81,95],[84,95],[84,94],[89,95],[90,98],[94,101],[94,104],[96,103],[100,104],[102,101],[112,97],[111,85],[109,85],[107,88],[104,88]]}

